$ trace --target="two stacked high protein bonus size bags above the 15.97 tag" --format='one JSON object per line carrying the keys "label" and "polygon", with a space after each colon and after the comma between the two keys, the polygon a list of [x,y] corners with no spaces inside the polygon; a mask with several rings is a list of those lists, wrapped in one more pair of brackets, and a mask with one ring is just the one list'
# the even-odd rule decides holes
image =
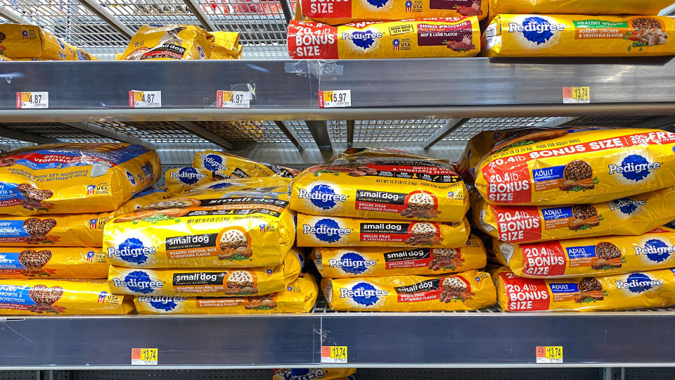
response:
{"label": "two stacked high protein bonus size bags above the 15.97 tag", "polygon": [[294,59],[470,57],[488,0],[298,0]]}

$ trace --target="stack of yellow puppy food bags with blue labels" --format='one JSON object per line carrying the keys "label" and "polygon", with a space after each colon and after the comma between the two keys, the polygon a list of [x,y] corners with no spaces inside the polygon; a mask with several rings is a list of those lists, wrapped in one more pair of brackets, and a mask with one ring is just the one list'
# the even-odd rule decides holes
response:
{"label": "stack of yellow puppy food bags with blue labels", "polygon": [[[0,314],[124,314],[105,281],[103,224],[154,198],[157,154],[134,144],[50,144],[0,154]],[[130,200],[134,194],[139,197]]]}

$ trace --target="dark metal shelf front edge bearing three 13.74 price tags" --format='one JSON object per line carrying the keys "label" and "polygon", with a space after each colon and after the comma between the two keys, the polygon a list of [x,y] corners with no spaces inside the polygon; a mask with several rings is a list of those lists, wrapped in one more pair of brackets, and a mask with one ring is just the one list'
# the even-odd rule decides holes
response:
{"label": "dark metal shelf front edge bearing three 13.74 price tags", "polygon": [[322,345],[347,346],[344,367],[535,367],[536,346],[563,346],[563,366],[660,367],[675,362],[673,323],[668,311],[3,318],[0,368],[132,368],[131,348],[158,348],[164,369],[320,367]]}

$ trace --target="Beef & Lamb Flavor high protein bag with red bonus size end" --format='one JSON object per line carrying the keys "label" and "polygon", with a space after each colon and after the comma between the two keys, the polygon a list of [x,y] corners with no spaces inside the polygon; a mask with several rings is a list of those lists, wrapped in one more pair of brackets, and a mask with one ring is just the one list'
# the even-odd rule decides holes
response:
{"label": "Beef & Lamb Flavor high protein bag with red bonus size end", "polygon": [[475,16],[338,27],[291,20],[288,25],[288,55],[293,59],[447,58],[478,53],[480,27]]}

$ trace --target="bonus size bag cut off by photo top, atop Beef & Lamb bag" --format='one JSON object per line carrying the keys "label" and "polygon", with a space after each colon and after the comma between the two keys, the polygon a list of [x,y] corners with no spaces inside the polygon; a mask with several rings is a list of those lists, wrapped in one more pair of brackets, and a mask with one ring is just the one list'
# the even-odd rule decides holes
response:
{"label": "bonus size bag cut off by photo top, atop Beef & Lamb bag", "polygon": [[410,18],[487,17],[488,0],[298,0],[302,16],[327,25]]}

